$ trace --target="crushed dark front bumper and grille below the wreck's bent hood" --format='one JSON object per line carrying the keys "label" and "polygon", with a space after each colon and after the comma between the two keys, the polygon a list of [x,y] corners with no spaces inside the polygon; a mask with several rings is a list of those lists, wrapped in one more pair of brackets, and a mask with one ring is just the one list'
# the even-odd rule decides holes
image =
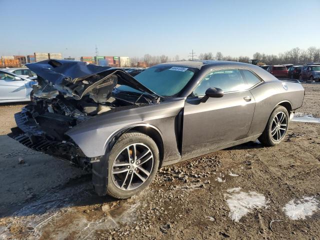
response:
{"label": "crushed dark front bumper and grille below the wreck's bent hood", "polygon": [[[36,151],[41,151],[82,167],[98,161],[98,157],[86,157],[81,149],[64,134],[85,115],[75,119],[72,116],[46,111],[42,101],[31,103],[14,114],[17,127],[11,129],[10,137]],[[59,102],[62,104],[62,102]],[[58,104],[58,103],[55,103]]]}

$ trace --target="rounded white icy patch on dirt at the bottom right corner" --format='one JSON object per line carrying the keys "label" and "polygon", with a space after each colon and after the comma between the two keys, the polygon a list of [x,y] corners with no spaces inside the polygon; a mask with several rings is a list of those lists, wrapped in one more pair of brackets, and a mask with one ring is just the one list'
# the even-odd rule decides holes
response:
{"label": "rounded white icy patch on dirt at the bottom right corner", "polygon": [[318,211],[320,206],[319,201],[314,196],[305,196],[301,199],[292,199],[282,210],[292,220],[305,219],[312,216]]}

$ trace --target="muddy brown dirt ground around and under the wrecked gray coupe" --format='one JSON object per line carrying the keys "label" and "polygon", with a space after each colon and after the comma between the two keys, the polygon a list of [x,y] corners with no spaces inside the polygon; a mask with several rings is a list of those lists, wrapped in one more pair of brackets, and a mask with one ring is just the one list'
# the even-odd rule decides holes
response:
{"label": "muddy brown dirt ground around and under the wrecked gray coupe", "polygon": [[[320,84],[299,112],[320,117]],[[126,200],[89,172],[6,136],[0,105],[0,239],[320,239],[320,124],[291,122],[274,147],[249,142],[159,170]],[[19,163],[20,160],[20,163]]]}

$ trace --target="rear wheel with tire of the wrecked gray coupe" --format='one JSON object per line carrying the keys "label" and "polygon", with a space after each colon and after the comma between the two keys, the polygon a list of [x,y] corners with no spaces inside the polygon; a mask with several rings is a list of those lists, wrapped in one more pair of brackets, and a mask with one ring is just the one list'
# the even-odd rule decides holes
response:
{"label": "rear wheel with tire of the wrecked gray coupe", "polygon": [[265,146],[274,146],[281,142],[288,130],[289,114],[284,106],[272,111],[268,122],[258,140]]}

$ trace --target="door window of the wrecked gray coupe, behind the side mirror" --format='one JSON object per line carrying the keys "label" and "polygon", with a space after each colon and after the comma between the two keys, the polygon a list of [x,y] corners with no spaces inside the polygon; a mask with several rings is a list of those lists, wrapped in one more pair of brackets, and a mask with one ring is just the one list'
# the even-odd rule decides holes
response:
{"label": "door window of the wrecked gray coupe, behind the side mirror", "polygon": [[239,69],[210,71],[193,90],[192,96],[203,96],[209,87],[221,88],[224,92],[247,89]]}

